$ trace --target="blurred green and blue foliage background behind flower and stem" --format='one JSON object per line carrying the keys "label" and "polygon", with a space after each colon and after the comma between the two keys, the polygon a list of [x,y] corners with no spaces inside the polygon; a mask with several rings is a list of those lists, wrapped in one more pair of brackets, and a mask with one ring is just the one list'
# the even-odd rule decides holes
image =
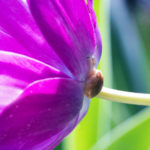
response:
{"label": "blurred green and blue foliage background behind flower and stem", "polygon": [[[94,10],[104,85],[150,93],[150,1],[95,0]],[[86,117],[55,150],[150,150],[150,108],[94,98]]]}

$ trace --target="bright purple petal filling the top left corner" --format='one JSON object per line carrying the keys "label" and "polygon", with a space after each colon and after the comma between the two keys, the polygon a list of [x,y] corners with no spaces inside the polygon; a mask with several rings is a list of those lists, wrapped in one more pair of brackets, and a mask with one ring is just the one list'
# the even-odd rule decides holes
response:
{"label": "bright purple petal filling the top left corner", "polygon": [[0,14],[0,43],[3,42],[1,50],[36,58],[69,74],[41,34],[25,3],[21,0],[0,0]]}

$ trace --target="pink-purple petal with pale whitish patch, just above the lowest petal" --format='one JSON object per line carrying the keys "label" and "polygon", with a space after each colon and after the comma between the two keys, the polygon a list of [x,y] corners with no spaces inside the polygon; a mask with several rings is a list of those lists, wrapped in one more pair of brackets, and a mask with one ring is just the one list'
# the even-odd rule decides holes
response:
{"label": "pink-purple petal with pale whitish patch, just above the lowest petal", "polygon": [[[0,51],[0,105],[15,100],[31,82],[49,77],[67,77],[59,70],[32,58]],[[8,94],[9,93],[9,94]]]}

